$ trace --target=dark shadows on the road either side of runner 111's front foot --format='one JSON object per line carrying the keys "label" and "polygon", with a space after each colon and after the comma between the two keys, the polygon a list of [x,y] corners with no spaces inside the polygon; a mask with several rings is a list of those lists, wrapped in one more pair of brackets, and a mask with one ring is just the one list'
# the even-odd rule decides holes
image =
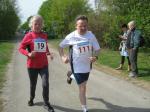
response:
{"label": "dark shadows on the road either side of runner 111's front foot", "polygon": [[[88,98],[89,100],[99,101],[106,105],[107,110],[105,109],[89,109],[89,112],[150,112],[150,108],[136,108],[136,107],[122,107],[118,105],[113,105],[101,98]],[[55,109],[64,112],[81,112],[81,110],[70,109],[61,106],[54,106]]]}

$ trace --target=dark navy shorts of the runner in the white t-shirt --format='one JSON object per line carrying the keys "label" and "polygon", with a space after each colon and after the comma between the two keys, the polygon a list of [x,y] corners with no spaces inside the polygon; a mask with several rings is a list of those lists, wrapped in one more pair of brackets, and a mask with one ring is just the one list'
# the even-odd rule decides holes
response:
{"label": "dark navy shorts of the runner in the white t-shirt", "polygon": [[77,84],[81,84],[89,79],[89,72],[88,73],[74,73],[74,77],[76,79]]}

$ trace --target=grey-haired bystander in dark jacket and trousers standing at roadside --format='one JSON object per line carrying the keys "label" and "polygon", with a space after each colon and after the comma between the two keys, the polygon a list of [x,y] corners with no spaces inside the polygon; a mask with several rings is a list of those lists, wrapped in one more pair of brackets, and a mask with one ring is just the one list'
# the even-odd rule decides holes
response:
{"label": "grey-haired bystander in dark jacket and trousers standing at roadside", "polygon": [[141,32],[136,29],[135,21],[128,23],[129,30],[127,32],[127,48],[129,50],[129,59],[131,62],[131,72],[129,77],[138,76],[137,56],[140,44]]}

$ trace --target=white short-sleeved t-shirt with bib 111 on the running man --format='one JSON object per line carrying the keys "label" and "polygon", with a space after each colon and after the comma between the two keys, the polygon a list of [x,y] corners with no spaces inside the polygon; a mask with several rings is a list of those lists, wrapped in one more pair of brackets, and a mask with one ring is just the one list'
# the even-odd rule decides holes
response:
{"label": "white short-sleeved t-shirt with bib 111 on the running man", "polygon": [[100,49],[94,34],[87,31],[84,35],[80,35],[77,31],[74,31],[67,35],[59,46],[65,48],[70,45],[73,49],[74,73],[90,72],[91,63],[89,57],[92,56],[93,51]]}

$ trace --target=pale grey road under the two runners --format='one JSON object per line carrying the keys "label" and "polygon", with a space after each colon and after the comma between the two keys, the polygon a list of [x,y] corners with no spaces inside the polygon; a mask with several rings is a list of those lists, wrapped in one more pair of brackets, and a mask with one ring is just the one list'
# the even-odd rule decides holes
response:
{"label": "pale grey road under the two runners", "polygon": [[[41,78],[38,77],[35,106],[29,107],[29,78],[26,57],[14,49],[8,67],[7,82],[3,89],[3,112],[47,112],[43,107]],[[49,62],[50,102],[56,112],[82,112],[78,99],[78,87],[73,81],[66,83],[68,65],[61,62],[58,51]],[[127,81],[93,69],[87,88],[89,112],[150,112],[150,91]]]}

